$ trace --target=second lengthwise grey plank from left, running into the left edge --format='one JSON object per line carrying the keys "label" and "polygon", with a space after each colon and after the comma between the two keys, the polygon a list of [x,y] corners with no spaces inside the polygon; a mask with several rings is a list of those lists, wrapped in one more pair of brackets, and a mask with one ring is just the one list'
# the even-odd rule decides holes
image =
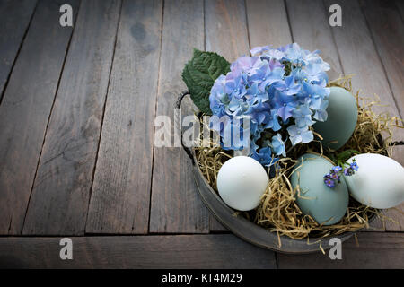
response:
{"label": "second lengthwise grey plank from left, running into the left edge", "polygon": [[[66,1],[77,10],[78,1]],[[20,234],[72,29],[41,1],[0,106],[0,234]]]}

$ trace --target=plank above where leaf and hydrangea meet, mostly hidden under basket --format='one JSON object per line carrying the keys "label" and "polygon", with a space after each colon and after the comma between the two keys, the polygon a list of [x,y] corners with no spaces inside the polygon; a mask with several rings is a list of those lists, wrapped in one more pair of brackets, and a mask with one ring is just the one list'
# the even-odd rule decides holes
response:
{"label": "plank above where leaf and hydrangea meet, mostly hidden under basket", "polygon": [[[244,0],[205,2],[206,51],[214,51],[229,62],[250,55]],[[210,230],[226,229],[210,215]]]}

